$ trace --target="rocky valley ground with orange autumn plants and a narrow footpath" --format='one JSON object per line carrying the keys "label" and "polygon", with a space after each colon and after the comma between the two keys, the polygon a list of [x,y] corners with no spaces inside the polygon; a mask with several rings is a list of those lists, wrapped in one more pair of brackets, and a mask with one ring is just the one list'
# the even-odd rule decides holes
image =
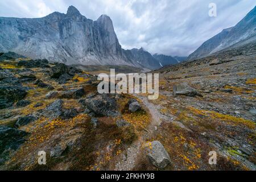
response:
{"label": "rocky valley ground with orange autumn plants and a narrow footpath", "polygon": [[155,71],[158,100],[98,94],[81,69],[4,56],[0,169],[255,170],[255,45]]}

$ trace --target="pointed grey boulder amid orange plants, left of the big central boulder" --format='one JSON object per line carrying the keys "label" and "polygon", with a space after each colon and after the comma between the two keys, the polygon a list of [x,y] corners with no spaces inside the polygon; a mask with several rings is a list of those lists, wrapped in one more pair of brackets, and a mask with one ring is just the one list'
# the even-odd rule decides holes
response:
{"label": "pointed grey boulder amid orange plants, left of the big central boulder", "polygon": [[55,119],[63,115],[63,101],[56,100],[49,104],[46,109],[43,111],[42,115],[47,118]]}

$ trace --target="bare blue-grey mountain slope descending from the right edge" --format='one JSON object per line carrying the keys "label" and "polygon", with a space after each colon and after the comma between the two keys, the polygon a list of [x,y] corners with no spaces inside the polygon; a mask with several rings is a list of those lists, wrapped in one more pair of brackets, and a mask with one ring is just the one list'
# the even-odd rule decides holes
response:
{"label": "bare blue-grey mountain slope descending from the right edge", "polygon": [[256,6],[234,27],[226,28],[220,34],[204,42],[188,60],[208,56],[236,44],[240,46],[256,41]]}

